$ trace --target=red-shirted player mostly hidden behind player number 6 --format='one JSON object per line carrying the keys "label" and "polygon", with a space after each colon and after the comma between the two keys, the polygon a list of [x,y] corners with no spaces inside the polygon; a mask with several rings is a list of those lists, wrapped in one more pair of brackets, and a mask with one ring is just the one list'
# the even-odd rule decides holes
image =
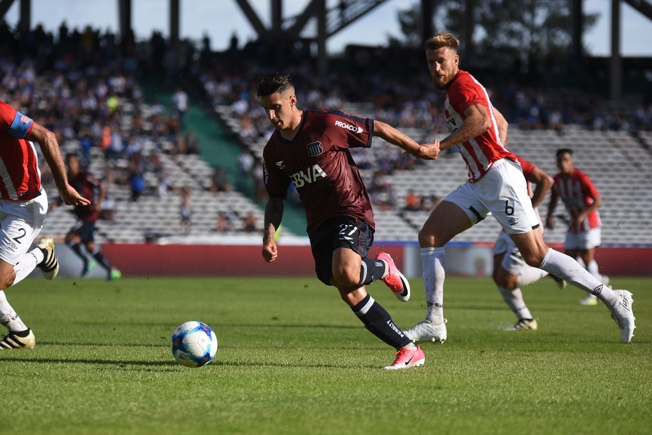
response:
{"label": "red-shirted player mostly hidden behind player number 6", "polygon": [[[516,156],[516,159],[523,168],[523,175],[527,181],[527,194],[532,198],[532,207],[539,219],[539,229],[543,231],[537,207],[552,188],[552,176],[521,156]],[[536,184],[534,191],[532,191],[530,183]],[[516,244],[514,244],[514,240],[509,237],[505,230],[500,232],[496,244],[494,244],[494,274],[492,277],[505,303],[518,319],[516,324],[507,328],[507,331],[537,330],[537,320],[532,317],[526,302],[523,300],[521,287],[535,283],[546,276],[548,276],[548,272],[545,270],[528,266],[518,251]],[[558,280],[553,275],[550,276],[556,281]],[[563,280],[558,280],[557,283],[560,284],[560,287],[566,284]]]}

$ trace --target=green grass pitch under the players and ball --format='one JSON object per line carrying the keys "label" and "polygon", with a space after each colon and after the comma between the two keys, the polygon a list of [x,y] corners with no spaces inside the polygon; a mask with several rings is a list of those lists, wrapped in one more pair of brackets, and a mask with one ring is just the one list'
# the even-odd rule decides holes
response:
{"label": "green grass pitch under the players and ball", "polygon": [[[421,280],[400,303],[368,288],[402,327],[424,316]],[[539,331],[488,279],[451,277],[449,340],[426,364],[387,372],[393,349],[315,278],[28,280],[7,296],[37,337],[0,351],[1,432],[16,434],[649,434],[652,279],[634,293],[632,343],[606,307],[544,279],[524,291]],[[186,320],[216,331],[215,361],[177,365]]]}

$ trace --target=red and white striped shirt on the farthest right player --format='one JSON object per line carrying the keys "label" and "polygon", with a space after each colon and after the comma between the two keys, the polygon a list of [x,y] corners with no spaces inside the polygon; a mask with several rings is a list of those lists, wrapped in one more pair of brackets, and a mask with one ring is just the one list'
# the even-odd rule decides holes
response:
{"label": "red and white striped shirt on the farthest right player", "polygon": [[577,168],[573,168],[570,176],[563,176],[561,173],[554,176],[555,184],[552,185],[550,201],[554,203],[561,198],[566,210],[571,215],[569,232],[584,232],[600,226],[600,214],[597,210],[589,213],[581,227],[575,225],[575,219],[584,212],[597,197],[600,196],[598,189],[588,175]]}

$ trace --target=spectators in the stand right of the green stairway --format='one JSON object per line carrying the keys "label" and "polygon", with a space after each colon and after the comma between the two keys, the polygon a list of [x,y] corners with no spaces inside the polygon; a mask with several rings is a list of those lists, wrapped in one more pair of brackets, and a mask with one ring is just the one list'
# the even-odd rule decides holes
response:
{"label": "spectators in the stand right of the green stairway", "polygon": [[[229,116],[239,123],[234,130],[242,148],[241,158],[246,159],[245,165],[241,162],[240,179],[250,180],[258,171],[256,163],[252,163],[255,158],[252,149],[256,148],[255,144],[264,143],[273,130],[259,105],[256,87],[261,77],[277,68],[265,66],[257,55],[241,55],[238,62],[229,61],[233,56],[239,55],[231,51],[212,59],[205,58],[193,70],[211,105],[229,107]],[[443,115],[443,94],[435,90],[425,65],[422,71],[410,74],[409,79],[405,75],[396,77],[383,74],[382,68],[364,74],[333,72],[318,79],[312,64],[305,59],[293,59],[286,65],[283,69],[293,76],[297,85],[298,105],[302,109],[351,107],[350,110],[355,110],[357,115],[373,117],[397,128],[411,129],[410,133],[417,141],[432,141],[434,137],[448,132]],[[496,80],[491,82],[496,83]],[[544,91],[516,85],[509,77],[489,87],[488,93],[511,126],[516,128],[550,129],[559,134],[563,134],[567,126],[600,131],[652,130],[651,102],[612,104],[606,98],[579,90]],[[361,169],[379,171],[381,174],[409,170],[419,164],[393,147],[374,153],[353,150],[352,154]],[[246,186],[237,188],[248,191]],[[391,188],[376,186],[372,182],[370,195],[374,204],[381,208],[398,206]],[[258,196],[254,193],[254,197],[260,199]],[[264,191],[261,196],[264,199]],[[436,198],[420,198],[419,208],[430,208],[436,201]]]}

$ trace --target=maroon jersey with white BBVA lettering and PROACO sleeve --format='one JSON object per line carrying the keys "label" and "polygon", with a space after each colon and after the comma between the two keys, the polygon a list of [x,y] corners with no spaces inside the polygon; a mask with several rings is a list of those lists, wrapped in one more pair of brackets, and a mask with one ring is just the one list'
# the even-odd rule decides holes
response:
{"label": "maroon jersey with white BBVA lettering and PROACO sleeve", "polygon": [[349,216],[375,229],[374,212],[349,148],[369,148],[374,120],[342,111],[303,111],[291,141],[274,132],[263,149],[265,188],[285,198],[292,182],[306,208],[308,234],[326,219]]}

